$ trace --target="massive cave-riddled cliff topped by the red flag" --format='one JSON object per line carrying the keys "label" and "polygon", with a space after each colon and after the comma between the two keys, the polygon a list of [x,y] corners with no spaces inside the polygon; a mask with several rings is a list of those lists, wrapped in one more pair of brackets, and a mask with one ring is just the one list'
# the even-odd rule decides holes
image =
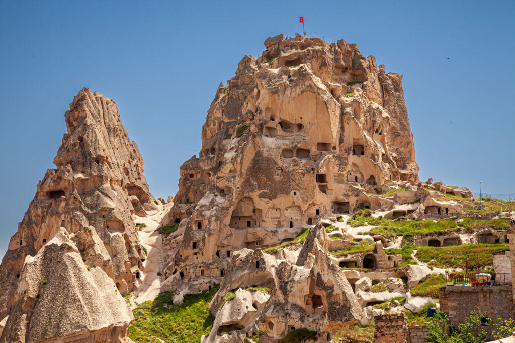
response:
{"label": "massive cave-riddled cliff topped by the red flag", "polygon": [[163,224],[165,290],[221,281],[235,250],[277,245],[329,213],[388,210],[381,194],[416,185],[402,77],[354,44],[318,38],[265,41],[218,87],[202,150],[180,169]]}

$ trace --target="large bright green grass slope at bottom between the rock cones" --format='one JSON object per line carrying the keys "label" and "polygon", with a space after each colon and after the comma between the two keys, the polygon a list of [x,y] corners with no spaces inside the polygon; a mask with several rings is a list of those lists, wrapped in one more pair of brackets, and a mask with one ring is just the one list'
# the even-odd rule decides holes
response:
{"label": "large bright green grass slope at bottom between the rock cones", "polygon": [[209,302],[219,285],[211,291],[188,295],[180,305],[173,304],[173,292],[163,292],[134,310],[129,337],[134,342],[199,342],[208,335],[215,318],[209,313]]}

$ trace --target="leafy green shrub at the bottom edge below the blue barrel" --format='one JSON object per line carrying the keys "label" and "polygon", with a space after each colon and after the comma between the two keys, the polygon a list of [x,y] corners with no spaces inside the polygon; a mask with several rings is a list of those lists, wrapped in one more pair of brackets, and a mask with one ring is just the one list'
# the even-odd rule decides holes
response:
{"label": "leafy green shrub at the bottom edge below the blue barrel", "polygon": [[440,320],[433,320],[426,324],[428,334],[427,341],[433,343],[484,343],[486,340],[485,330],[479,330],[481,319],[485,314],[477,311],[470,313],[465,321],[455,329],[445,313],[440,312]]}

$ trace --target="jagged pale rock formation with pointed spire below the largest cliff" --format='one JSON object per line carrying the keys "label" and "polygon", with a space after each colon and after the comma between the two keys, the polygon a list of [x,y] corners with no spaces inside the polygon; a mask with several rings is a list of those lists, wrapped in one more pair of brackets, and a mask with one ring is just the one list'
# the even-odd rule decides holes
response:
{"label": "jagged pale rock formation with pointed spire below the largest cliff", "polygon": [[259,331],[272,338],[295,329],[331,332],[358,322],[362,309],[345,272],[327,254],[327,240],[322,226],[313,227],[297,263],[259,248],[236,252],[211,301],[216,319],[203,342],[244,341]]}

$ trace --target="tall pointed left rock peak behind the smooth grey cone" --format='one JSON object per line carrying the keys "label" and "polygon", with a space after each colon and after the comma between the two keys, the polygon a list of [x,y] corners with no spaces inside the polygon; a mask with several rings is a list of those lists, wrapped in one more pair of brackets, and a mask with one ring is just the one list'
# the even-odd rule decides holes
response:
{"label": "tall pointed left rock peak behind the smooth grey cone", "polygon": [[[65,114],[67,133],[0,265],[0,317],[9,314],[25,259],[62,227],[84,263],[98,265],[121,294],[138,286],[144,252],[133,214],[157,210],[143,176],[143,159],[122,125],[116,104],[82,89]],[[55,261],[54,261],[55,262]]]}

